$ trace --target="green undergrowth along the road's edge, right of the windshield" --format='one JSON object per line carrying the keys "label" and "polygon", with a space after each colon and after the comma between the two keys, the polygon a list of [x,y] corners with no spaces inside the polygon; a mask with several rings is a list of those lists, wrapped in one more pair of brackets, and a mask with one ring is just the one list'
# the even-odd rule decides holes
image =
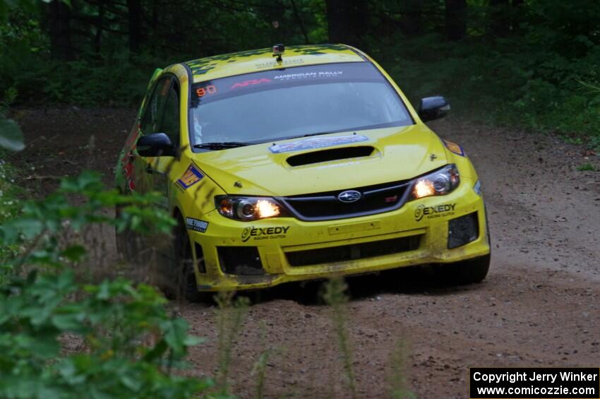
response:
{"label": "green undergrowth along the road's edge, right of the windshield", "polygon": [[558,133],[600,152],[600,46],[567,58],[551,44],[402,38],[376,51],[414,107],[444,95],[452,113],[486,124]]}

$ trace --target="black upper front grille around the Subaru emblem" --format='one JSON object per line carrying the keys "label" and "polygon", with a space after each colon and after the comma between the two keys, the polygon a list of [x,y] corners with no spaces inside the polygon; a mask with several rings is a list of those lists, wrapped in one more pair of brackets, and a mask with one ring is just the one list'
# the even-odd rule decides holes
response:
{"label": "black upper front grille around the Subaru emblem", "polygon": [[335,220],[373,215],[396,210],[404,205],[408,195],[408,181],[378,184],[354,189],[362,194],[359,201],[344,203],[337,196],[346,191],[304,194],[278,198],[300,220]]}

